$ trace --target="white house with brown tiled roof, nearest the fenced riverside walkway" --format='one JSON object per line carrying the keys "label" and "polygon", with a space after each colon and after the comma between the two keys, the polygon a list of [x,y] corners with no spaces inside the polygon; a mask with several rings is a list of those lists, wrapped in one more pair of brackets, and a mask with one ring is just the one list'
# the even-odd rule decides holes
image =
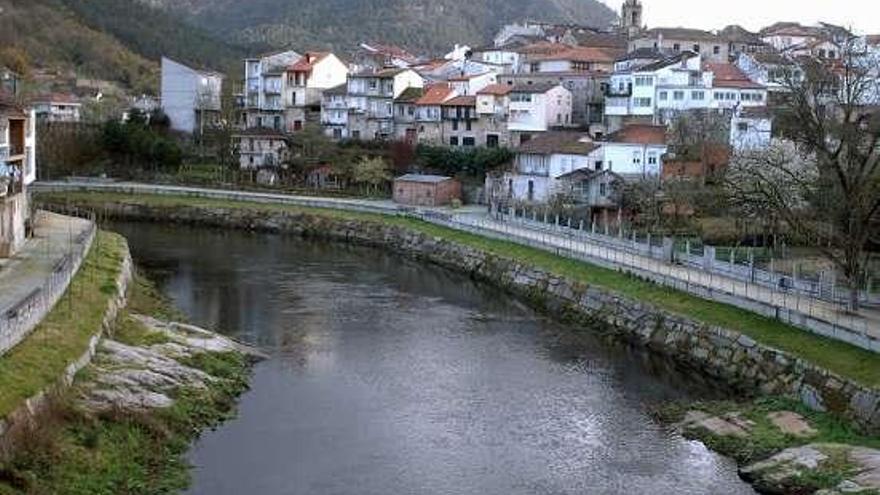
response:
{"label": "white house with brown tiled roof, nearest the fenced riverside walkway", "polygon": [[563,192],[565,182],[560,177],[601,167],[601,148],[588,134],[546,132],[516,149],[514,169],[502,179],[503,194],[509,201],[546,203]]}

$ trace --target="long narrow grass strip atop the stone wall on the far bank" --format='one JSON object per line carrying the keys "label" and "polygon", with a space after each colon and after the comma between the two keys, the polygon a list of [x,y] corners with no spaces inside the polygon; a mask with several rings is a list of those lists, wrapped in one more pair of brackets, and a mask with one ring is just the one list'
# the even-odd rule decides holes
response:
{"label": "long narrow grass strip atop the stone wall on the far bank", "polygon": [[657,308],[680,314],[708,325],[741,332],[756,341],[786,351],[843,377],[867,386],[880,386],[880,358],[855,346],[816,336],[781,321],[760,316],[734,306],[716,303],[637,279],[626,273],[590,265],[535,248],[489,239],[466,232],[429,224],[415,219],[343,210],[302,208],[251,202],[234,202],[183,196],[137,195],[116,193],[56,193],[39,195],[38,201],[76,204],[101,214],[101,205],[127,203],[159,208],[203,207],[242,208],[254,212],[294,212],[338,219],[364,220],[397,225],[417,232],[518,260],[550,273],[587,285],[601,287],[622,296],[650,303]]}

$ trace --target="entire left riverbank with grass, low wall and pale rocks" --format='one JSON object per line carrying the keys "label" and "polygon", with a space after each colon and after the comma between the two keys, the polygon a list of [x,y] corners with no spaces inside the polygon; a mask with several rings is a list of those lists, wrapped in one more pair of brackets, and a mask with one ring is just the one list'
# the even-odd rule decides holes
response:
{"label": "entire left riverbank with grass, low wall and pale rocks", "polygon": [[14,419],[0,494],[174,493],[191,441],[233,413],[246,349],[161,321],[179,315],[145,280],[128,283],[130,263],[125,240],[99,232],[59,304],[0,359]]}

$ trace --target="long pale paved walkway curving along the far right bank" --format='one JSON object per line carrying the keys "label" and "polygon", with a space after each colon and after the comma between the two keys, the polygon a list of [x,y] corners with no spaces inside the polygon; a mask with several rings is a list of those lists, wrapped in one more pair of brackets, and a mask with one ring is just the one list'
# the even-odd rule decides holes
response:
{"label": "long pale paved walkway curving along the far right bank", "polygon": [[[233,190],[217,190],[183,186],[159,186],[152,184],[135,184],[119,182],[54,182],[37,184],[36,189],[47,191],[107,191],[142,194],[166,194],[239,201],[258,201],[267,203],[284,203],[319,208],[336,208],[344,210],[368,211],[386,214],[407,212],[420,216],[427,221],[440,223],[460,230],[476,231],[486,235],[503,236],[514,242],[536,245],[560,254],[570,252],[575,257],[590,258],[604,264],[633,267],[641,272],[654,275],[668,285],[699,293],[695,288],[711,289],[713,299],[747,308],[767,315],[775,314],[782,317],[788,313],[787,321],[817,331],[832,338],[845,340],[856,345],[874,350],[880,349],[880,312],[865,309],[860,315],[847,314],[842,307],[808,296],[796,296],[772,287],[750,284],[717,273],[710,273],[697,268],[664,263],[648,256],[631,254],[606,245],[583,240],[574,241],[571,237],[551,232],[531,229],[515,223],[501,223],[489,218],[485,208],[467,208],[450,210],[448,208],[420,209],[402,208],[390,201],[368,201],[360,199],[321,198],[309,196],[293,196],[287,194],[255,193]],[[445,221],[425,216],[421,213],[442,211],[451,214],[451,220]],[[703,290],[703,292],[706,292]],[[731,295],[719,297],[718,293]],[[760,307],[760,308],[758,308]],[[758,310],[760,309],[760,310]],[[781,310],[781,311],[780,311]],[[810,321],[805,321],[809,319]],[[820,328],[821,327],[821,328]],[[843,334],[846,335],[843,335]],[[854,337],[855,336],[855,337]],[[870,342],[866,342],[869,340]]]}

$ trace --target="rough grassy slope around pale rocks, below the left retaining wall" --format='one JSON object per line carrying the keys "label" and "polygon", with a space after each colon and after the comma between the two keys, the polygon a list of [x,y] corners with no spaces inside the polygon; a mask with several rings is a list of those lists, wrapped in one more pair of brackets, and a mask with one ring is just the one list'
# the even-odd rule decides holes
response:
{"label": "rough grassy slope around pale rocks, below the left retaining wall", "polygon": [[[166,337],[130,318],[177,312],[143,278],[129,290],[112,337],[129,345],[151,345]],[[228,418],[247,388],[249,366],[240,354],[204,354],[184,364],[221,378],[208,389],[179,390],[175,404],[149,414],[92,414],[75,405],[78,386],[56,398],[38,429],[23,432],[15,454],[0,464],[0,495],[116,495],[178,493],[189,483],[184,458],[205,428]],[[77,382],[88,378],[88,368]]]}

